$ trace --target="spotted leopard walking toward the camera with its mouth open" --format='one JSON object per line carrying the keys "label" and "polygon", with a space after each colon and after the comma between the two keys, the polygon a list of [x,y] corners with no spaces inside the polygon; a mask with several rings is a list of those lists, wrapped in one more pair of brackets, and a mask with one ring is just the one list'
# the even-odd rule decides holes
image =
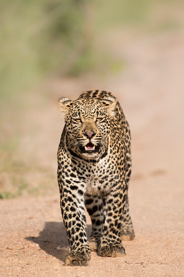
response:
{"label": "spotted leopard walking toward the camera with its mouth open", "polygon": [[[83,92],[58,100],[65,125],[57,152],[60,207],[70,244],[64,265],[85,266],[91,251],[122,257],[122,240],[135,237],[129,212],[131,135],[112,93]],[[88,240],[86,213],[91,217]]]}

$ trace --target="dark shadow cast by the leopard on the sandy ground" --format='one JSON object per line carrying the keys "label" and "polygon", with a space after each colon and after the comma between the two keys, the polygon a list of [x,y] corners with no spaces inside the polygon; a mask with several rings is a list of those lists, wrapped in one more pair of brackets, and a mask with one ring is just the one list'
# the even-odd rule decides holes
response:
{"label": "dark shadow cast by the leopard on the sandy ground", "polygon": [[[91,225],[87,225],[88,238],[91,234]],[[46,253],[64,261],[64,257],[69,250],[58,250],[59,245],[69,245],[67,233],[63,222],[45,222],[43,230],[38,237],[26,237],[26,240],[37,243]]]}

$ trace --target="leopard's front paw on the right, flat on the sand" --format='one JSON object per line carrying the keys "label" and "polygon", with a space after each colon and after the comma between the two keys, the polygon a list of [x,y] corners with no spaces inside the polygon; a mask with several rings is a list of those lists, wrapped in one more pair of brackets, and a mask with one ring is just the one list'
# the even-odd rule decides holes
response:
{"label": "leopard's front paw on the right, flat on the sand", "polygon": [[103,246],[98,250],[98,255],[101,257],[122,257],[125,254],[125,248],[122,244]]}

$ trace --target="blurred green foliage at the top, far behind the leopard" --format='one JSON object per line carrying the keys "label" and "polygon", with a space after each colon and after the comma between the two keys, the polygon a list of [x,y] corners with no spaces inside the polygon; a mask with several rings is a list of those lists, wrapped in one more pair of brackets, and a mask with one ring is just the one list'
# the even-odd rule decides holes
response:
{"label": "blurred green foliage at the top, far behind the leopard", "polygon": [[120,68],[113,55],[99,50],[98,35],[113,26],[148,24],[150,9],[160,2],[171,0],[2,0],[1,96],[31,87],[48,73]]}

